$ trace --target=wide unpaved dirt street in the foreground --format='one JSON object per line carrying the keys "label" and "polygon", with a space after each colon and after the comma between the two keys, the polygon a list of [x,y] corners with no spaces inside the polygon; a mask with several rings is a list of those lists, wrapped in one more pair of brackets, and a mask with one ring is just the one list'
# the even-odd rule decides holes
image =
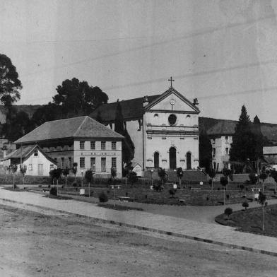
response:
{"label": "wide unpaved dirt street in the foreground", "polygon": [[277,258],[0,206],[0,276],[274,276]]}

